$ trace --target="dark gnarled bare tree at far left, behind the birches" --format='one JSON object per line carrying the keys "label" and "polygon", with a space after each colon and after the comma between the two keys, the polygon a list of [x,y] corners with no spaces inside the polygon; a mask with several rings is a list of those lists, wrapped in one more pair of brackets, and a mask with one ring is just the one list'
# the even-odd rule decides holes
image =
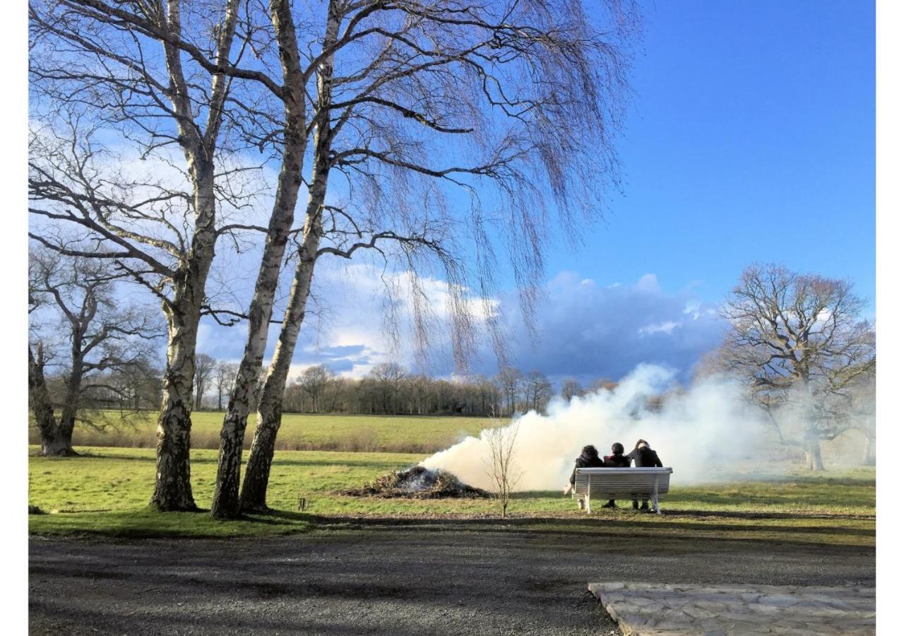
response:
{"label": "dark gnarled bare tree at far left, behind the birches", "polygon": [[[116,280],[125,274],[108,263],[58,252],[34,249],[29,254],[30,318],[42,314],[54,334],[69,348],[61,362],[64,369],[59,421],[53,415],[45,381],[48,364],[42,329],[33,323],[29,343],[29,388],[33,391],[33,413],[41,431],[42,455],[72,455],[72,432],[76,422],[98,426],[97,418],[85,412],[89,403],[130,402],[127,386],[111,380],[112,371],[136,370],[152,356],[150,342],[162,329],[146,311],[131,305],[119,309],[114,295]],[[57,327],[59,326],[59,327]],[[61,328],[60,328],[61,327]]]}

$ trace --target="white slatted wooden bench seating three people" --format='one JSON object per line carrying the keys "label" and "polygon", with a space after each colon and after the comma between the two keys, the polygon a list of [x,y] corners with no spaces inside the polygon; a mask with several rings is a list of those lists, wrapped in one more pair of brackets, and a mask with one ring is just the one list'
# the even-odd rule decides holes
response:
{"label": "white slatted wooden bench seating three people", "polygon": [[584,500],[588,514],[591,499],[650,499],[661,515],[659,498],[669,491],[670,475],[671,468],[579,468],[572,497]]}

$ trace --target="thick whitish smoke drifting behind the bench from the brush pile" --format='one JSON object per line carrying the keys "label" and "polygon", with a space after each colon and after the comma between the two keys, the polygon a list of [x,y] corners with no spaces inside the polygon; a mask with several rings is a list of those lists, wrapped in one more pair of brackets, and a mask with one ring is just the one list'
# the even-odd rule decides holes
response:
{"label": "thick whitish smoke drifting behind the bench from the brush pile", "polygon": [[[548,415],[527,413],[509,426],[518,426],[515,458],[522,473],[517,490],[561,489],[574,460],[586,444],[600,456],[620,441],[626,452],[639,438],[649,441],[673,479],[687,483],[716,479],[713,463],[755,459],[763,428],[760,414],[745,403],[738,384],[711,378],[685,392],[666,394],[651,411],[649,398],[673,384],[674,372],[655,365],[639,365],[613,391],[553,401]],[[421,462],[430,469],[448,470],[478,488],[491,487],[487,474],[490,451],[484,435],[468,437]]]}

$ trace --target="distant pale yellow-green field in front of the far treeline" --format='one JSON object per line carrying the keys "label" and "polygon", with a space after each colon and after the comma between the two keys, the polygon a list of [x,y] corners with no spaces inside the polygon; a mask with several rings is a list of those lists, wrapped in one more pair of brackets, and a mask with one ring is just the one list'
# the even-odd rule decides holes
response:
{"label": "distant pale yellow-green field in front of the far treeline", "polygon": [[[92,431],[76,426],[75,446],[154,448],[156,413],[142,413],[133,425]],[[223,413],[202,411],[192,415],[192,447],[219,448]],[[115,420],[114,420],[115,422]],[[492,422],[477,417],[410,415],[314,415],[286,413],[277,437],[279,451],[436,452]],[[255,418],[249,418],[245,448],[250,447]],[[29,443],[40,443],[34,427]]]}

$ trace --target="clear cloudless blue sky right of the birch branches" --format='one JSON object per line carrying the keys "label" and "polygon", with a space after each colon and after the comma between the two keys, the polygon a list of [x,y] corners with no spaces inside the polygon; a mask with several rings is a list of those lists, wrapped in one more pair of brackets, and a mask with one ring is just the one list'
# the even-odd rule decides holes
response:
{"label": "clear cloudless blue sky right of the birch branches", "polygon": [[751,261],[875,296],[875,13],[868,2],[645,6],[626,183],[550,270],[653,272],[718,300]]}

